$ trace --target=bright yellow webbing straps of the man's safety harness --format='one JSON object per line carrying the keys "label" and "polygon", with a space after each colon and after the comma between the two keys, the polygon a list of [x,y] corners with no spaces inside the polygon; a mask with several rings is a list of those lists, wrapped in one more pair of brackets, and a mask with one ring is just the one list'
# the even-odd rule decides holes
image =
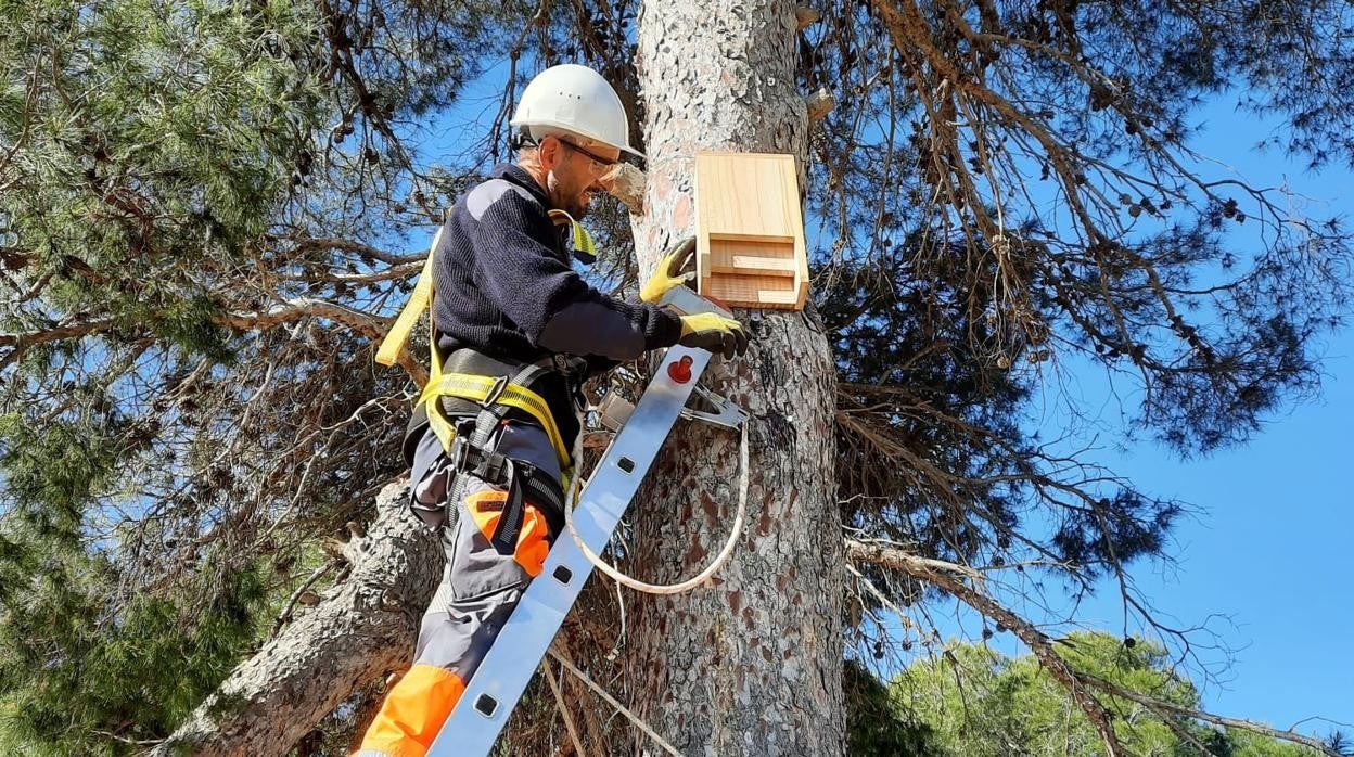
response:
{"label": "bright yellow webbing straps of the man's safety harness", "polygon": [[[551,211],[551,217],[555,217],[556,213],[569,218],[569,214],[562,210]],[[573,223],[573,218],[569,218],[569,222]],[[574,223],[575,245],[578,244],[580,234],[590,249],[593,244],[592,237],[588,236],[588,232],[582,230],[582,226]],[[437,252],[439,241],[441,241],[441,228],[433,234],[432,246],[428,249],[428,259],[424,261],[422,272],[418,274],[418,283],[414,284],[414,291],[409,295],[409,302],[399,310],[399,316],[395,317],[395,322],[386,333],[386,339],[380,340],[380,347],[376,349],[376,362],[382,366],[395,364],[395,360],[399,359],[399,352],[405,348],[405,343],[409,341],[409,333],[413,332],[414,324],[418,322],[418,316],[422,316],[424,310],[432,303],[433,255]],[[551,414],[550,405],[543,397],[525,386],[505,383],[506,379],[496,376],[443,374],[443,359],[437,352],[437,339],[433,333],[432,322],[428,324],[428,348],[432,353],[432,364],[429,366],[428,383],[424,386],[422,393],[420,393],[418,402],[414,406],[424,405],[428,413],[428,425],[437,436],[437,440],[441,441],[443,450],[451,451],[451,443],[456,439],[456,428],[443,412],[440,399],[443,397],[458,397],[471,402],[485,402],[497,391],[494,402],[517,408],[535,418],[546,429],[546,436],[555,448],[555,455],[559,456],[561,470],[567,471],[570,469],[570,451],[565,446],[565,440],[559,435],[559,427],[555,425],[555,417]]]}

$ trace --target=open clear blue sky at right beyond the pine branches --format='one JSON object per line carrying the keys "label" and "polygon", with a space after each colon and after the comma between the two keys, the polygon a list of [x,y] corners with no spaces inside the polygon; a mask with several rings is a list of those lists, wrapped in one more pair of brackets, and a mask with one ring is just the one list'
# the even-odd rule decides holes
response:
{"label": "open clear blue sky at right beyond the pine branches", "polygon": [[[1313,214],[1354,217],[1350,171],[1312,175],[1301,161],[1254,153],[1267,127],[1229,102],[1200,111],[1200,152],[1259,186],[1289,186]],[[1204,511],[1177,528],[1175,565],[1136,566],[1139,588],[1185,626],[1229,616],[1210,627],[1235,650],[1233,665],[1225,684],[1205,687],[1205,703],[1280,727],[1313,715],[1354,724],[1354,329],[1331,334],[1322,353],[1320,395],[1270,417],[1244,447],[1190,462],[1150,441],[1098,455],[1145,490]],[[1086,379],[1097,394],[1098,379]],[[1114,628],[1118,605],[1106,594],[1083,605],[1083,618]]]}

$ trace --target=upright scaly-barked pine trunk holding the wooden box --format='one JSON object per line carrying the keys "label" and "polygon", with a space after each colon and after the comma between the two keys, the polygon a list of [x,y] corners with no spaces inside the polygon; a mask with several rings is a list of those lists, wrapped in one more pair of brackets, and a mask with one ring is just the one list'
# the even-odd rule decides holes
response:
{"label": "upright scaly-barked pine trunk holding the wooden box", "polygon": [[[793,3],[642,5],[649,194],[634,225],[645,271],[695,232],[697,149],[791,153],[803,176],[808,122],[795,34]],[[751,414],[747,524],[711,585],[639,600],[627,650],[638,704],[689,756],[842,754],[831,353],[811,310],[738,317],[749,355],[715,363],[704,382]],[[680,424],[631,511],[640,576],[686,577],[708,562],[727,536],[737,482],[737,435]]]}

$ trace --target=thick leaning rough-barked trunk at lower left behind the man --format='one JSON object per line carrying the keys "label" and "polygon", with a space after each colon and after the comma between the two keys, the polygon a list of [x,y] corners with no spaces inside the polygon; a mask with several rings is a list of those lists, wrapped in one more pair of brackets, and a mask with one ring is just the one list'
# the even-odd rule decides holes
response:
{"label": "thick leaning rough-barked trunk at lower left behind the man", "polygon": [[367,535],[344,547],[348,580],[240,664],[152,754],[286,754],[357,687],[406,669],[443,566],[408,500],[408,481],[386,486]]}

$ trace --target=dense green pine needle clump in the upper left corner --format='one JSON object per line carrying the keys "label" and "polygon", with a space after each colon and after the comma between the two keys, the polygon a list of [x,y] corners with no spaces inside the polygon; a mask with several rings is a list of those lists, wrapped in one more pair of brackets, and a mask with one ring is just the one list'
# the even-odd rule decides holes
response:
{"label": "dense green pine needle clump in the upper left corner", "polygon": [[250,260],[324,112],[314,74],[288,58],[315,34],[313,12],[7,5],[0,81],[24,104],[0,108],[0,141],[23,149],[0,209],[24,251],[11,268],[46,280],[41,310],[0,316],[8,330],[107,313],[99,330],[115,343],[149,328],[225,359],[204,328],[217,279]]}

